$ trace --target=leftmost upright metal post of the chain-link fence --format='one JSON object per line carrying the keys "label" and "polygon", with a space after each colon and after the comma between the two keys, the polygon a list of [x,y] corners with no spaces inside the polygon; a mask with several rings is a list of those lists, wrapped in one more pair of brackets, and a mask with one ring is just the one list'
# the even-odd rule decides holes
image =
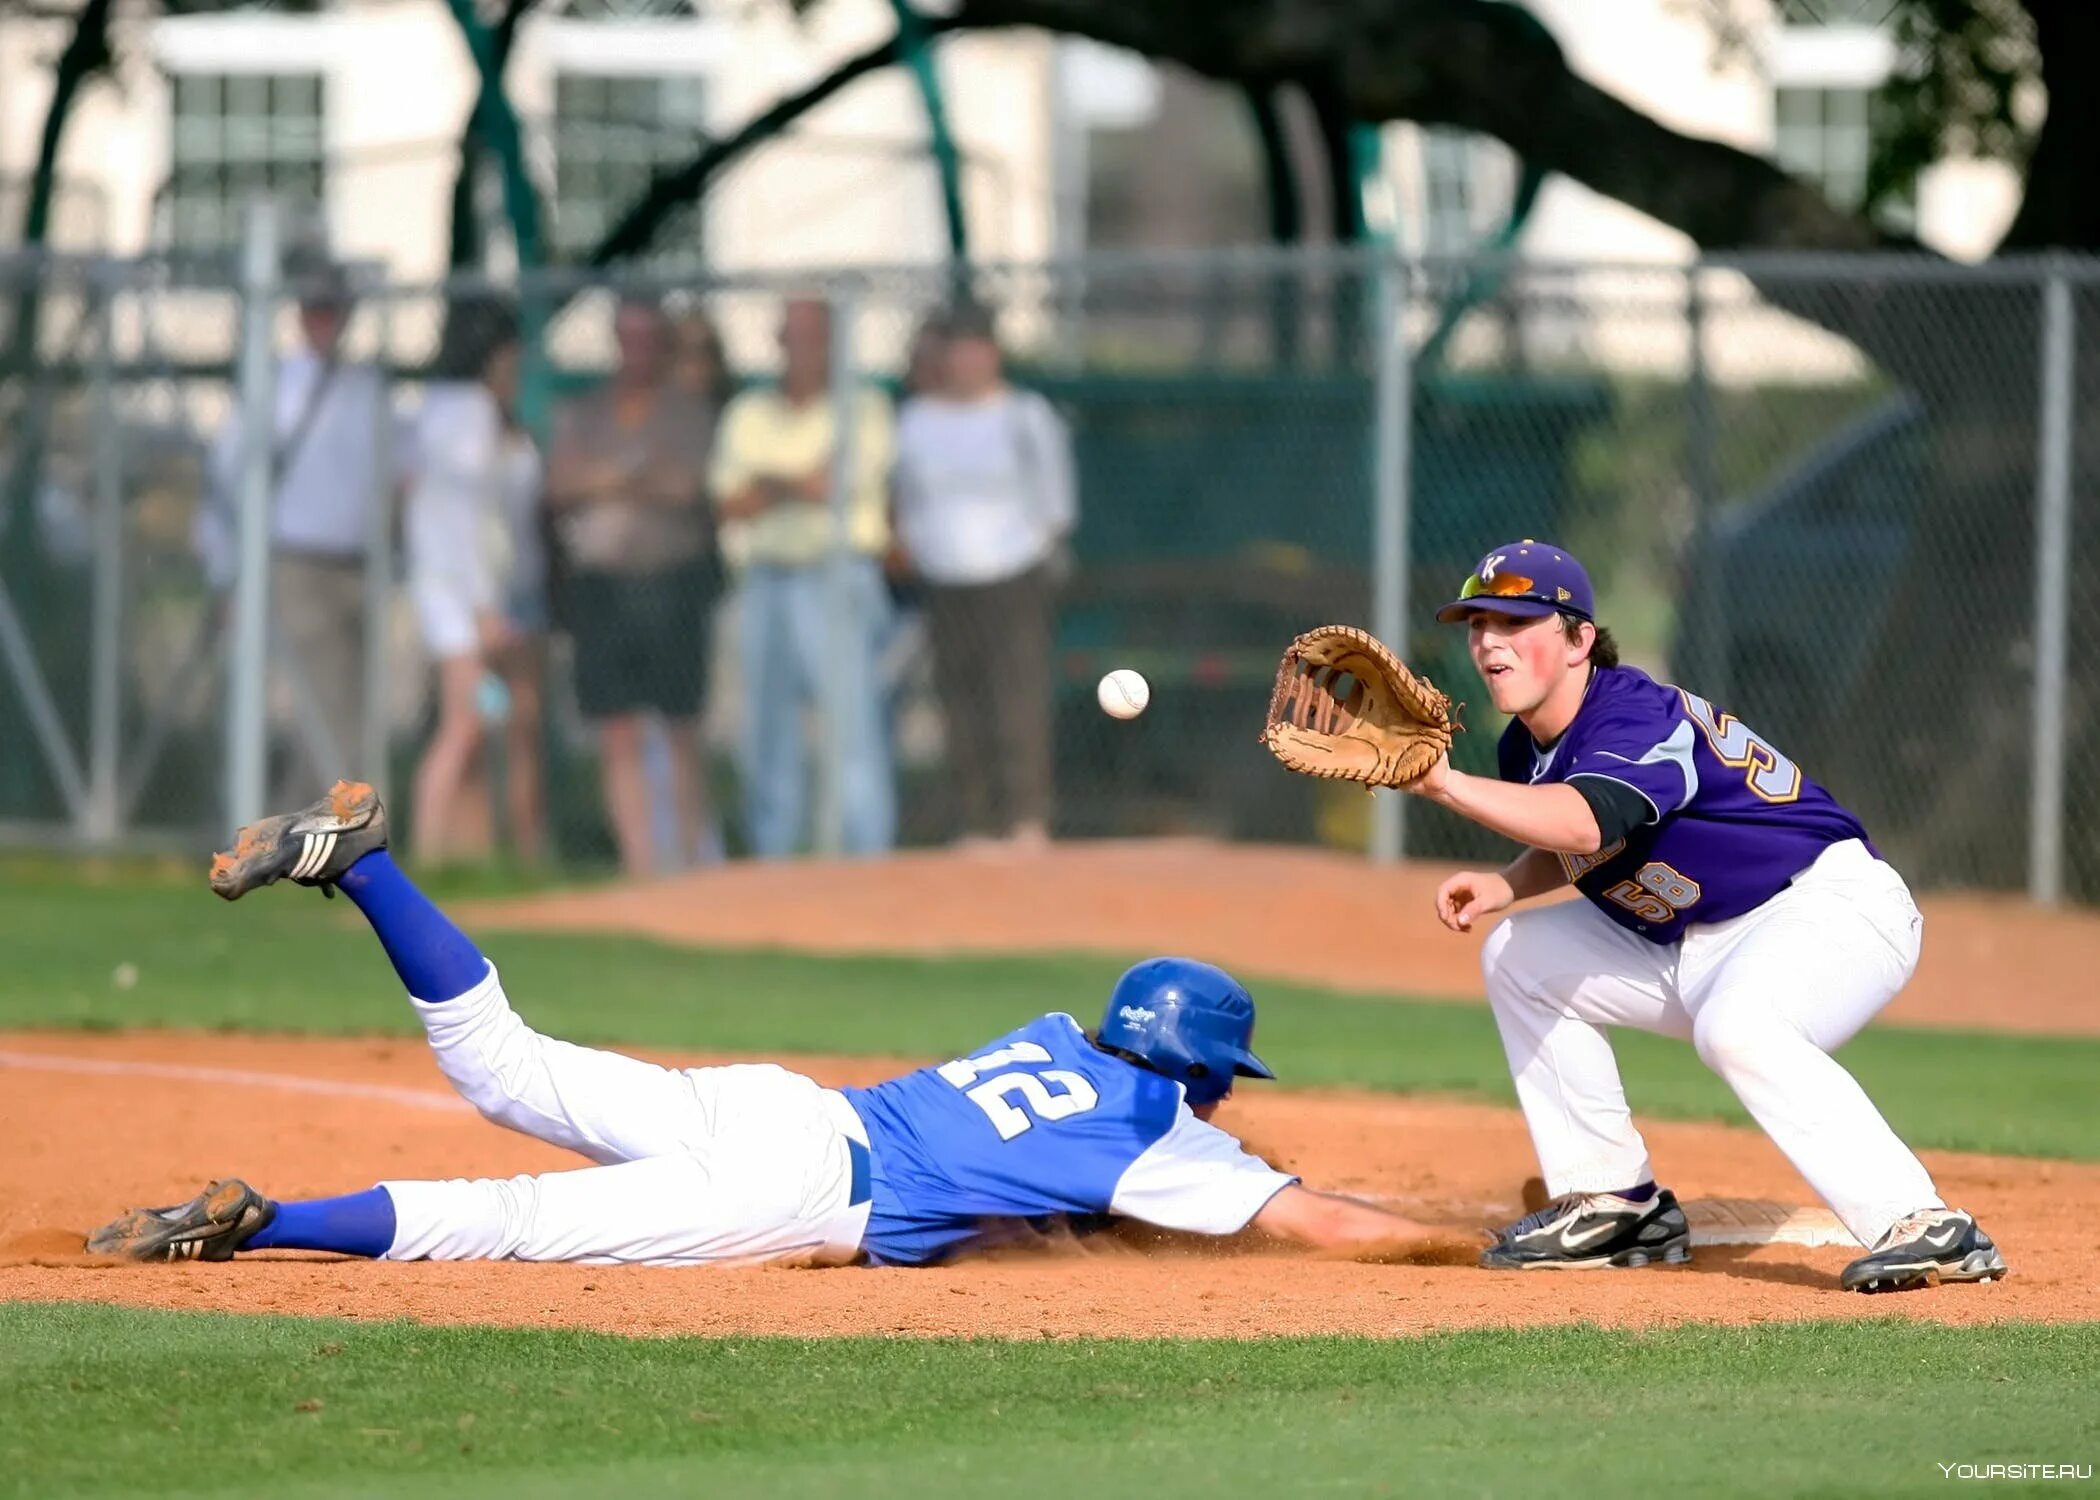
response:
{"label": "leftmost upright metal post of the chain-link fence", "polygon": [[99,845],[118,840],[124,687],[124,429],[116,401],[113,279],[101,286],[101,338],[94,345],[94,582],[88,685],[88,800],[86,834]]}

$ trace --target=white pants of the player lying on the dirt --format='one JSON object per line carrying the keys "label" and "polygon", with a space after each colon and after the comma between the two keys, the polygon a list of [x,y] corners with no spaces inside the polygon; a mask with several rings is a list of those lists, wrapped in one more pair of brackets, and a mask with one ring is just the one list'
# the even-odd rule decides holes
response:
{"label": "white pants of the player lying on the dirt", "polygon": [[388,1261],[855,1258],[867,1130],[836,1090],[785,1067],[657,1067],[556,1042],[517,1017],[494,964],[464,996],[416,1011],[475,1109],[601,1166],[380,1183],[395,1204]]}

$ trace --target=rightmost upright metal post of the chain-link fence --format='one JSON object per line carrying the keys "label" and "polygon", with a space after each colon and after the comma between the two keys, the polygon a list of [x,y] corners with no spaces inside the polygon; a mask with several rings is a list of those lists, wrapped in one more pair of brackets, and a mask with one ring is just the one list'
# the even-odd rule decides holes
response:
{"label": "rightmost upright metal post of the chain-link fence", "polygon": [[2035,454],[2035,765],[2026,813],[2026,893],[2064,897],[2064,674],[2071,609],[2071,284],[2060,265],[2041,294],[2041,422]]}

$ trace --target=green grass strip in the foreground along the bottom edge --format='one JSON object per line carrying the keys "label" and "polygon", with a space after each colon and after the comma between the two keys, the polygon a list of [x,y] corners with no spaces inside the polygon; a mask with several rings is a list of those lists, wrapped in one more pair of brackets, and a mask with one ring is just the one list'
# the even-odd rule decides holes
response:
{"label": "green grass strip in the foreground along the bottom edge", "polygon": [[0,1494],[1850,1496],[2096,1462],[2096,1389],[2092,1324],[622,1340],[13,1305]]}

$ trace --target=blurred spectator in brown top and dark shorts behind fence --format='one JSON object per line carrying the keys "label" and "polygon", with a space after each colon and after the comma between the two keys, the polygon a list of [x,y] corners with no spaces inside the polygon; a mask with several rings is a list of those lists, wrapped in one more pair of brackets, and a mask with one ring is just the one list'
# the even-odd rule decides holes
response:
{"label": "blurred spectator in brown top and dark shorts behind fence", "polygon": [[548,506],[575,639],[575,697],[598,721],[605,811],[620,863],[655,868],[643,731],[670,750],[674,863],[693,859],[704,819],[697,716],[708,672],[714,536],[704,479],[714,412],[670,387],[670,328],[653,303],[613,317],[620,368],[554,416]]}

